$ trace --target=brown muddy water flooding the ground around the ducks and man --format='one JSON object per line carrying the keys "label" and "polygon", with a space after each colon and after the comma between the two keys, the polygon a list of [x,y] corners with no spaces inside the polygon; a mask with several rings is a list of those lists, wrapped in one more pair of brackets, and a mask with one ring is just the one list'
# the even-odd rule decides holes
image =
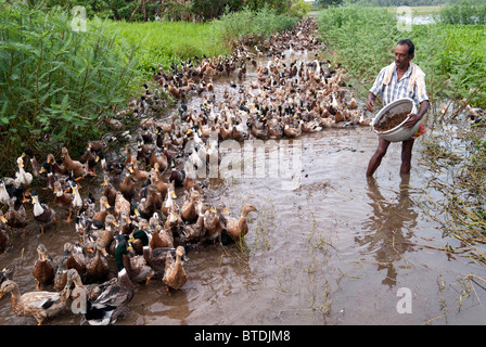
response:
{"label": "brown muddy water flooding the ground around the ducks and man", "polygon": [[[250,70],[246,82],[253,76]],[[217,83],[217,95],[225,88]],[[200,103],[193,99],[189,106]],[[421,246],[459,245],[443,237],[439,226],[420,207],[430,179],[421,165],[423,141],[415,142],[409,176],[398,174],[400,145],[392,144],[375,178],[367,180],[378,138],[369,128],[357,127],[324,129],[290,141],[286,158],[295,166],[278,175],[266,171],[263,178],[242,175],[212,182],[207,200],[223,202],[232,216],[247,202],[258,208],[248,217],[247,247],[194,249],[184,264],[189,281],[183,290],[166,292],[159,277],[149,285],[137,284],[130,314],[117,324],[486,323],[484,290],[463,280],[471,272],[481,275],[482,269],[466,258],[456,260]],[[268,167],[272,157],[256,153],[254,166]],[[241,162],[250,172],[252,160]],[[94,189],[93,182],[87,182],[85,194]],[[31,207],[27,213],[31,216]],[[25,237],[18,232],[11,236],[13,246],[0,256],[0,268],[15,265],[21,292],[34,291],[30,271],[38,243],[55,257],[73,240],[73,223],[60,222],[42,235],[31,226]],[[110,264],[114,267],[113,258]],[[406,306],[397,296],[400,288],[411,297]],[[400,313],[397,304],[411,312]],[[66,312],[46,324],[79,320]],[[8,298],[0,301],[0,325],[34,323],[15,317]]]}

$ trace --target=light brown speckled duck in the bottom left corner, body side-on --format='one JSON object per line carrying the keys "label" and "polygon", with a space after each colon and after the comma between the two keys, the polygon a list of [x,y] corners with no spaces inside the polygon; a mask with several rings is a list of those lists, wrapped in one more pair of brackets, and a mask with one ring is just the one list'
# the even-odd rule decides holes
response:
{"label": "light brown speckled duck in the bottom left corner, body side-on", "polygon": [[21,295],[18,285],[12,280],[7,280],[2,283],[0,298],[7,293],[10,293],[12,296],[12,312],[17,317],[34,317],[38,325],[42,325],[47,318],[64,312],[71,295],[69,290],[63,290],[62,292],[27,292]]}

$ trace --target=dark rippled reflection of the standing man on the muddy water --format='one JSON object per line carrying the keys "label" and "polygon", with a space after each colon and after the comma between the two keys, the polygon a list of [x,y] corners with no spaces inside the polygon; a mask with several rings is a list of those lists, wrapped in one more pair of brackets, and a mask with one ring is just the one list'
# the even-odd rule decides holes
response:
{"label": "dark rippled reflection of the standing man on the muddy water", "polygon": [[357,236],[358,244],[373,254],[378,270],[386,270],[382,283],[389,287],[397,282],[395,262],[410,250],[406,243],[413,236],[418,213],[409,196],[410,175],[401,175],[396,197],[386,198],[381,193],[376,180],[368,179],[368,196],[371,207],[370,218],[363,223],[364,235]]}

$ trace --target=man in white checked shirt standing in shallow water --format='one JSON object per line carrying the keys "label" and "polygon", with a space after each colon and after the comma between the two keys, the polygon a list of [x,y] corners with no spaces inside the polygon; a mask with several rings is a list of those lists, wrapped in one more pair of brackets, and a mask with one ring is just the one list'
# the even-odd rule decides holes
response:
{"label": "man in white checked shirt standing in shallow water", "polygon": [[[373,87],[370,89],[367,100],[367,108],[370,112],[373,112],[374,101],[380,94],[383,95],[384,105],[401,98],[410,98],[415,104],[420,104],[417,114],[409,114],[410,118],[404,125],[406,129],[411,129],[418,121],[421,121],[429,108],[425,74],[418,65],[411,62],[414,56],[414,51],[413,42],[409,39],[400,40],[397,43],[395,48],[395,62],[381,69]],[[400,174],[410,172],[413,142],[415,138],[424,132],[425,128],[421,124],[419,130],[411,139],[402,141]],[[380,166],[389,143],[389,141],[381,137],[379,138],[376,152],[374,152],[368,164],[368,177],[372,176]]]}

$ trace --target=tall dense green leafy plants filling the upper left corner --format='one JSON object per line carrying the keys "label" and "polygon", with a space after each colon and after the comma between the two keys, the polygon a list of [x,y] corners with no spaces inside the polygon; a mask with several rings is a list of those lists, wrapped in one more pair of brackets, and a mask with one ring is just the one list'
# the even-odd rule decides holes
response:
{"label": "tall dense green leafy plants filling the upper left corner", "polygon": [[101,21],[73,30],[72,15],[59,8],[1,1],[0,9],[2,155],[25,146],[84,150],[80,140],[99,138],[105,117],[131,92],[137,48],[107,35]]}

